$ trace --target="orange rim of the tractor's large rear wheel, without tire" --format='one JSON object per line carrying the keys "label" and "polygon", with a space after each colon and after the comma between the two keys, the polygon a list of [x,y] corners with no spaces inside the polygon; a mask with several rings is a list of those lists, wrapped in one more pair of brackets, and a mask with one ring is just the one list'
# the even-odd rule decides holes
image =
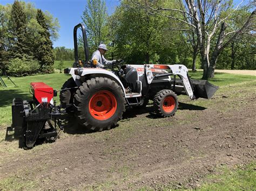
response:
{"label": "orange rim of the tractor's large rear wheel, without tire", "polygon": [[93,118],[106,120],[111,118],[117,110],[116,97],[107,90],[98,91],[89,102],[89,111]]}

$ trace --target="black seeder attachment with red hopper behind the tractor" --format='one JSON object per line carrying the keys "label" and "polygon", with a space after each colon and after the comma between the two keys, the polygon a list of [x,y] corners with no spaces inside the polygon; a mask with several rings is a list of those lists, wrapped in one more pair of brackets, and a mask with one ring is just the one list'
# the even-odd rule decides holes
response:
{"label": "black seeder attachment with red hopper behind the tractor", "polygon": [[[43,82],[31,83],[33,100],[14,98],[12,101],[12,129],[20,135],[19,146],[31,148],[36,143],[53,142],[57,128],[63,129],[65,110],[53,104],[57,91]],[[53,124],[52,124],[53,122]]]}

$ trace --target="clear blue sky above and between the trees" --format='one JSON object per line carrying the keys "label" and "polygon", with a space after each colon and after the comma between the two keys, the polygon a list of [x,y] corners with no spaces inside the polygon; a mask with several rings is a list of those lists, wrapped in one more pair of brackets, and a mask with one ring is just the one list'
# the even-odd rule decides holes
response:
{"label": "clear blue sky above and between the trees", "polygon": [[[24,1],[24,0],[23,0]],[[81,16],[85,9],[86,0],[25,0],[35,4],[35,8],[49,11],[59,20],[59,38],[53,41],[53,47],[65,46],[73,48],[73,27],[82,23]],[[0,0],[0,4],[13,4],[14,0]],[[120,4],[119,0],[106,0],[107,13],[111,15]]]}

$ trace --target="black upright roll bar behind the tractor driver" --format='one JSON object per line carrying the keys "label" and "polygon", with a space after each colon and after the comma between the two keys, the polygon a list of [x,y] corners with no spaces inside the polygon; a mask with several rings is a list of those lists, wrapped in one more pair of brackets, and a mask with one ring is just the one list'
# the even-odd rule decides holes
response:
{"label": "black upright roll bar behind the tractor driver", "polygon": [[79,23],[74,27],[73,35],[74,35],[74,48],[75,48],[75,61],[78,62],[78,48],[77,48],[77,29],[81,27],[83,33],[83,41],[84,41],[84,53],[85,53],[85,63],[89,61],[89,48],[87,43],[86,30],[83,23]]}

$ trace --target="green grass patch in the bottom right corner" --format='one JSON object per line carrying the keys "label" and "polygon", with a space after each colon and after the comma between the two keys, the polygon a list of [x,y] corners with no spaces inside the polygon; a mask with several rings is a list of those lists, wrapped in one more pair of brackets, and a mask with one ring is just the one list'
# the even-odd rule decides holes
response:
{"label": "green grass patch in the bottom right corner", "polygon": [[224,166],[217,175],[210,175],[199,190],[255,190],[256,163],[230,169]]}

